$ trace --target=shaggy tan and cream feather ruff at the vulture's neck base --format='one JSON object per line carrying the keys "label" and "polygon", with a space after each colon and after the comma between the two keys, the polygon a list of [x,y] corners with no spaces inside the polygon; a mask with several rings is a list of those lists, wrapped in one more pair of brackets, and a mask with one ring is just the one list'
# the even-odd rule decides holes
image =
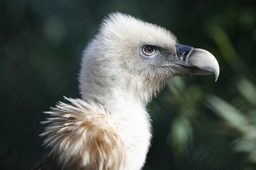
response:
{"label": "shaggy tan and cream feather ruff at the vulture's neck base", "polygon": [[51,118],[43,122],[48,126],[41,134],[46,136],[44,145],[53,147],[61,168],[122,169],[127,146],[120,140],[111,115],[96,104],[65,99],[70,104],[60,102],[46,112]]}

